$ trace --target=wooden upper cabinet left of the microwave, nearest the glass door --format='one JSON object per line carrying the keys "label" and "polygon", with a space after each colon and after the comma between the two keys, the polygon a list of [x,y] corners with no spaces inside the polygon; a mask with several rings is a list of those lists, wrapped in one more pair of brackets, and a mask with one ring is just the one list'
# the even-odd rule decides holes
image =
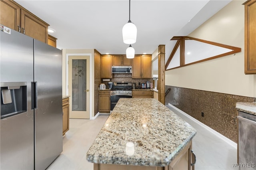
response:
{"label": "wooden upper cabinet left of the microwave, nearest the glass door", "polygon": [[112,55],[101,56],[101,78],[112,78]]}

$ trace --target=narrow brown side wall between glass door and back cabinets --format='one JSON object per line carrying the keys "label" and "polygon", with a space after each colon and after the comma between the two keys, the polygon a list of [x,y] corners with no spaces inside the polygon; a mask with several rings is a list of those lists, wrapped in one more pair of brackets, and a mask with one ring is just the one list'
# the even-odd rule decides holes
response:
{"label": "narrow brown side wall between glass door and back cabinets", "polygon": [[97,50],[94,50],[94,116],[98,113],[98,87],[101,83],[100,57],[101,54]]}

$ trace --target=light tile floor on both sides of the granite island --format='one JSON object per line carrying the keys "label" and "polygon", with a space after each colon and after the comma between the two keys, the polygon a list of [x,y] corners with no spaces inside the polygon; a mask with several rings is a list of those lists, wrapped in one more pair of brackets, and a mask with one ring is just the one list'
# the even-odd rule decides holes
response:
{"label": "light tile floor on both sides of the granite island", "polygon": [[[195,170],[238,170],[232,166],[236,163],[236,148],[188,117],[176,114],[197,130],[192,144],[197,159]],[[93,170],[86,152],[107,118],[108,115],[99,115],[95,120],[70,119],[70,130],[63,137],[63,152],[47,170]]]}

